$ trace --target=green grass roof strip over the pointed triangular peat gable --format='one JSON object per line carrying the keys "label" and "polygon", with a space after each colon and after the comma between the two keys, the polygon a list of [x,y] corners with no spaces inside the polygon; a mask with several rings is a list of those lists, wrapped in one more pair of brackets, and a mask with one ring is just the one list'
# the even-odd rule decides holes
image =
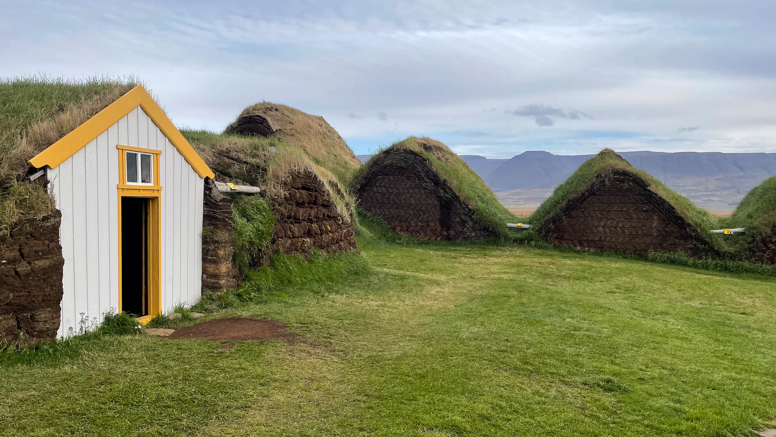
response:
{"label": "green grass roof strip over the pointed triangular peat gable", "polygon": [[712,246],[715,246],[718,250],[724,250],[725,243],[721,237],[708,232],[719,226],[718,219],[715,216],[705,209],[695,206],[690,199],[670,190],[670,188],[656,180],[649,173],[634,168],[622,156],[619,156],[611,149],[604,149],[597,156],[582,163],[577,171],[555,188],[553,194],[526,219],[526,222],[532,225],[540,225],[547,218],[559,212],[566,205],[566,201],[577,198],[577,196],[582,194],[598,177],[604,177],[615,170],[624,170],[643,179],[651,191],[668,201],[676,209],[677,214],[681,215],[690,225],[695,226],[709,240],[709,243],[712,243]]}

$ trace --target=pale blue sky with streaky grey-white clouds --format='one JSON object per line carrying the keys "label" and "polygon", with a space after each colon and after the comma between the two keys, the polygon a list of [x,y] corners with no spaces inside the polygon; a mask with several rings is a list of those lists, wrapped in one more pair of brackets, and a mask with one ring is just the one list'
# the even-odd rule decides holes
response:
{"label": "pale blue sky with streaky grey-white clouds", "polygon": [[139,78],[180,128],[266,100],[356,154],[776,152],[772,0],[0,0],[0,76]]}

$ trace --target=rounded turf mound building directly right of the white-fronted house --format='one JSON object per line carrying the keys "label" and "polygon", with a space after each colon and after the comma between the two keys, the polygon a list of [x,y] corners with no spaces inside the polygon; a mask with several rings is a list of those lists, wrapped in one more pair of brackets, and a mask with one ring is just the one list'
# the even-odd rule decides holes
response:
{"label": "rounded turf mound building directly right of the white-fronted house", "polygon": [[[222,135],[183,131],[215,172],[205,186],[203,291],[236,288],[278,253],[309,257],[357,249],[355,199],[319,164],[351,172],[355,168],[342,163],[348,163],[352,151],[322,118],[266,104],[277,108],[272,115],[284,127],[285,137],[274,121],[274,131],[251,128],[251,123],[260,123],[257,116],[245,121],[245,111]],[[283,114],[293,114],[293,122]],[[235,130],[239,123],[242,130]],[[223,192],[221,184],[255,187],[258,192]]]}

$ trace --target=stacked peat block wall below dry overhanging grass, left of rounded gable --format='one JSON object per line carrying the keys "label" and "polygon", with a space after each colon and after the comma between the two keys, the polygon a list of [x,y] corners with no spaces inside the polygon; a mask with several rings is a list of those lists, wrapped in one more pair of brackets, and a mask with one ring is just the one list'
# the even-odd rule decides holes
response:
{"label": "stacked peat block wall below dry overhanging grass, left of rounded gable", "polygon": [[282,198],[270,201],[275,212],[275,231],[266,253],[297,253],[310,249],[324,255],[357,249],[351,222],[340,214],[331,194],[314,173],[296,172],[282,184]]}

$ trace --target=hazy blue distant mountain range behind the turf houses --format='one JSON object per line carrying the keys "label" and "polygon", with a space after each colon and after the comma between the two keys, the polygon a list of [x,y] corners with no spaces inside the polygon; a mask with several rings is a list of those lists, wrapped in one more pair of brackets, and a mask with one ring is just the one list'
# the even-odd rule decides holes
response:
{"label": "hazy blue distant mountain range behind the turf houses", "polygon": [[[776,153],[622,152],[632,166],[708,209],[733,209],[752,187],[776,174]],[[594,155],[523,152],[511,159],[462,155],[504,203],[541,203]]]}

